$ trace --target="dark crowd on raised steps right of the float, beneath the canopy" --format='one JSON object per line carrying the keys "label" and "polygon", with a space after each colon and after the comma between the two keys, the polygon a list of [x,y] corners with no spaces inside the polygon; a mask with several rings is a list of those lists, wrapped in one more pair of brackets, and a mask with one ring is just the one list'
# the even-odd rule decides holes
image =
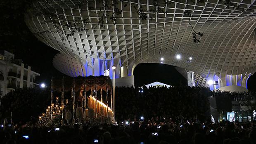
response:
{"label": "dark crowd on raised steps right of the float, beneath the canopy", "polygon": [[209,116],[210,90],[206,87],[118,87],[116,89],[116,119],[200,118]]}

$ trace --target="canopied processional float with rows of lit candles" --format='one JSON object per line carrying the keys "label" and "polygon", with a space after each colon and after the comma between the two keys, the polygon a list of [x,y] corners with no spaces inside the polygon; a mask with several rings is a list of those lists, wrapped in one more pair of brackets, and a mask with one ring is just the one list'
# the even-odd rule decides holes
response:
{"label": "canopied processional float with rows of lit candles", "polygon": [[[61,104],[55,93],[60,93]],[[50,106],[39,116],[39,125],[114,123],[112,85],[107,76],[52,78],[50,96]]]}

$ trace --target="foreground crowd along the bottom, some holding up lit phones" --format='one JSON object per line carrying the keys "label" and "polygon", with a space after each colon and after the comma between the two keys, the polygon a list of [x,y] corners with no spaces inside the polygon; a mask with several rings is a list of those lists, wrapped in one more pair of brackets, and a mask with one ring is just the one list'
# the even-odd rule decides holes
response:
{"label": "foreground crowd along the bottom, some holding up lit phones", "polygon": [[160,120],[119,125],[0,128],[0,144],[256,144],[256,123],[177,123]]}

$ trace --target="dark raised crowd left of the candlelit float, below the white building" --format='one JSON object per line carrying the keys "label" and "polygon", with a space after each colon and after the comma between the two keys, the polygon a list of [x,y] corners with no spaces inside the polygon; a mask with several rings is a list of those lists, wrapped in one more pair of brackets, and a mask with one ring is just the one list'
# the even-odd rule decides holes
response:
{"label": "dark raised crowd left of the candlelit float, below the white building", "polygon": [[0,118],[11,117],[14,123],[37,121],[39,113],[50,104],[50,90],[23,88],[11,91],[0,99]]}

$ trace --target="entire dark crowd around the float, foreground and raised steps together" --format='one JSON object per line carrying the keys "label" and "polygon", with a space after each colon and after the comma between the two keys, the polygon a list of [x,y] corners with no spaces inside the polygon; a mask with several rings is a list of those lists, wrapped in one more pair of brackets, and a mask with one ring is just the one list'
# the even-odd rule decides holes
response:
{"label": "entire dark crowd around the float, foreground and raised steps together", "polygon": [[1,124],[0,144],[256,144],[256,121],[213,123],[208,100],[215,97],[224,105],[255,100],[254,92],[116,87],[117,125],[39,127],[30,116],[38,116],[49,97],[49,90],[40,89],[16,90],[3,97],[1,113],[12,111],[14,123],[19,118],[23,122]]}

